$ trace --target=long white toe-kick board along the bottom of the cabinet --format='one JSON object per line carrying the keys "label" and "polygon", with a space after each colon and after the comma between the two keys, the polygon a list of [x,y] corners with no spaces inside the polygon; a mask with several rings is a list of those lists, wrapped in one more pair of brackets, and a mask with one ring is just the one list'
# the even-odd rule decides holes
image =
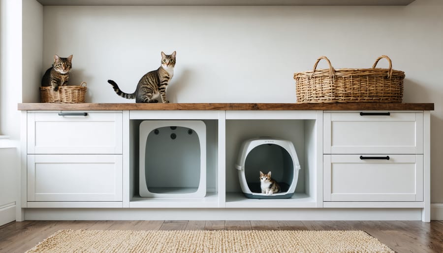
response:
{"label": "long white toe-kick board along the bottom of the cabinet", "polygon": [[28,208],[25,220],[421,221],[421,209]]}

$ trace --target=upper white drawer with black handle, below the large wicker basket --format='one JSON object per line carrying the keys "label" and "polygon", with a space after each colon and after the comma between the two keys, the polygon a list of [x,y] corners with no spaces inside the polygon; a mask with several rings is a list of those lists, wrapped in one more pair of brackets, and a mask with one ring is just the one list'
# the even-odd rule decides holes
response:
{"label": "upper white drawer with black handle, below the large wicker basket", "polygon": [[324,154],[423,154],[423,114],[324,113]]}

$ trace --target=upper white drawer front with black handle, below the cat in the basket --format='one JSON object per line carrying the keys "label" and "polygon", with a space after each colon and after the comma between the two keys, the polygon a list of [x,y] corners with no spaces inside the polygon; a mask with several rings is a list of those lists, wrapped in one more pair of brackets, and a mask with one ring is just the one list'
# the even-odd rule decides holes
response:
{"label": "upper white drawer front with black handle, below the cat in the basket", "polygon": [[122,113],[28,113],[28,154],[122,154]]}

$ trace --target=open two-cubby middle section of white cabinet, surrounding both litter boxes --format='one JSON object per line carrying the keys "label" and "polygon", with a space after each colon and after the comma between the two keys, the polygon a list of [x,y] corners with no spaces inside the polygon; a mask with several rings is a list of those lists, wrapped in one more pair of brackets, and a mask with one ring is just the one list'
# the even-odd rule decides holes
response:
{"label": "open two-cubby middle section of white cabinet, surrounding both litter boxes", "polygon": [[[180,117],[179,117],[180,116]],[[183,118],[182,118],[183,117]],[[244,119],[246,117],[246,119]],[[178,112],[137,112],[129,117],[129,207],[131,208],[263,208],[266,203],[275,208],[317,207],[318,158],[321,157],[322,141],[317,112],[255,112],[234,111],[220,113]],[[161,195],[143,197],[140,195],[140,128],[143,122],[155,121],[202,121],[206,125],[206,194],[201,197],[186,197],[184,190],[176,196]],[[178,124],[173,124],[178,125]],[[166,125],[165,125],[166,126]],[[188,127],[189,128],[189,127]],[[158,128],[153,128],[158,129]],[[187,129],[184,129],[187,130]],[[152,131],[152,129],[151,129]],[[166,130],[167,134],[169,130]],[[149,134],[148,134],[149,135]],[[272,136],[293,144],[301,167],[297,184],[289,198],[253,199],[247,198],[239,183],[237,159],[242,143],[253,138]],[[279,150],[276,150],[279,151]],[[281,150],[280,150],[281,151]],[[262,152],[262,151],[260,151]],[[295,163],[295,162],[294,162]],[[268,170],[268,168],[263,168]],[[267,171],[264,171],[267,172]],[[279,181],[290,185],[291,173],[278,175]],[[248,175],[256,178],[259,174]],[[253,181],[253,179],[249,180]],[[190,183],[185,181],[184,183]],[[166,182],[169,183],[169,182]],[[162,193],[162,192],[160,192]],[[183,195],[180,195],[183,194]],[[143,195],[143,194],[142,194]]]}

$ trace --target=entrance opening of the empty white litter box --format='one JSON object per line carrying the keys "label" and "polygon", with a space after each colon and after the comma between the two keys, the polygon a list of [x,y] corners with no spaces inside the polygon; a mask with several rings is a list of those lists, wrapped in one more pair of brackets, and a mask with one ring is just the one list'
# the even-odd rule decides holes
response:
{"label": "entrance opening of the empty white litter box", "polygon": [[153,193],[192,193],[200,182],[200,142],[184,126],[152,130],[146,141],[145,180]]}

